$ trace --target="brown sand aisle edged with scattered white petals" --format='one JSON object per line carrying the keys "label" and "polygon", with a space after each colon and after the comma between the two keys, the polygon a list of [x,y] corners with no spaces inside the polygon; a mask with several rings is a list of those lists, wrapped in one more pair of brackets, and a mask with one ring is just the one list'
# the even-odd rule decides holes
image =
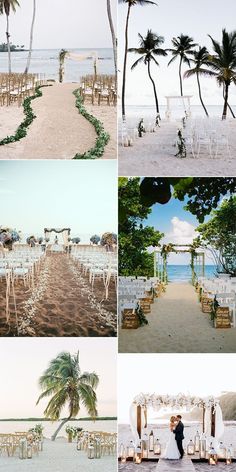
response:
{"label": "brown sand aisle edged with scattered white petals", "polygon": [[[95,281],[94,293],[88,277],[81,274],[68,255],[48,253],[33,290],[21,281],[15,284],[18,319],[27,323],[27,336],[115,336],[116,291],[114,281],[109,299],[104,300],[104,284]],[[31,317],[31,309],[35,310]],[[22,323],[20,323],[22,324]],[[5,318],[5,284],[0,285],[0,336],[15,334],[11,298],[10,333]]]}

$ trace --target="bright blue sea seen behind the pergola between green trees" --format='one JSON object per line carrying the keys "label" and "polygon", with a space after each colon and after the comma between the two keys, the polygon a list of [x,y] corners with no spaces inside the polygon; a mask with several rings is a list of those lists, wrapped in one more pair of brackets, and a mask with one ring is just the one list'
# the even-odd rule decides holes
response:
{"label": "bright blue sea seen behind the pergola between green trees", "polygon": [[[192,270],[190,265],[171,265],[168,264],[168,280],[169,282],[188,282],[191,281]],[[201,276],[201,269],[196,267],[197,276]],[[205,276],[214,277],[216,275],[216,267],[214,265],[205,266]]]}

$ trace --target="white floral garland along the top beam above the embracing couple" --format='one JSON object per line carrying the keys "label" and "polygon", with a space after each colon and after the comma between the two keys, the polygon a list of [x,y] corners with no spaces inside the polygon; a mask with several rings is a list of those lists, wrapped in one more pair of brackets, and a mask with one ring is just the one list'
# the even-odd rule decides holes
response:
{"label": "white floral garland along the top beam above the embracing couple", "polygon": [[171,395],[157,395],[157,394],[144,394],[140,393],[134,398],[133,403],[142,407],[150,406],[154,409],[159,409],[162,407],[172,407],[172,408],[189,408],[194,407],[205,407],[210,409],[216,407],[219,404],[219,400],[215,397],[192,397],[190,395],[184,395],[182,393],[171,396]]}

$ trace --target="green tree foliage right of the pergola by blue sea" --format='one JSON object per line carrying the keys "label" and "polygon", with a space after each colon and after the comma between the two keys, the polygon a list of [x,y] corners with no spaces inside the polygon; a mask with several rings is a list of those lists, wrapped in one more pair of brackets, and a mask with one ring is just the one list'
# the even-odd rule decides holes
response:
{"label": "green tree foliage right of the pergola by blue sea", "polygon": [[211,219],[197,228],[198,244],[211,249],[217,270],[236,276],[236,196],[223,200]]}

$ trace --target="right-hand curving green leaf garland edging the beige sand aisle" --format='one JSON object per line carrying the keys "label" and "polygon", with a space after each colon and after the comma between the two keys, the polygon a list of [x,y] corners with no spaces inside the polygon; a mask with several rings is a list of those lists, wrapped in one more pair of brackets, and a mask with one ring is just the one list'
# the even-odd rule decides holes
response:
{"label": "right-hand curving green leaf garland edging the beige sand aisle", "polygon": [[96,144],[93,148],[89,149],[84,154],[77,153],[73,159],[97,159],[98,157],[102,157],[105,146],[110,140],[110,135],[104,130],[102,122],[88,113],[83,104],[83,99],[79,93],[79,89],[75,90],[73,93],[76,97],[76,107],[80,114],[94,126],[98,135]]}

